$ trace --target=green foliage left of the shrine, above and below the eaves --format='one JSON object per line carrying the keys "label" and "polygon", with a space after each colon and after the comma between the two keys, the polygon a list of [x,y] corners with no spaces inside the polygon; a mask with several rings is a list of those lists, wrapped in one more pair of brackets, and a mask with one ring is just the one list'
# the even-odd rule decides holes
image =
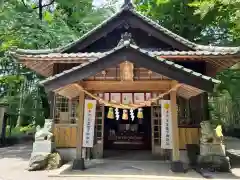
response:
{"label": "green foliage left of the shrine, above and below the eaves", "polygon": [[48,49],[65,45],[112,13],[109,8],[94,8],[92,0],[55,0],[42,8],[35,2],[8,0],[0,6],[0,102],[9,105],[9,120],[17,127],[42,125],[49,116],[49,104],[44,89],[37,85],[43,77],[6,52],[14,46]]}

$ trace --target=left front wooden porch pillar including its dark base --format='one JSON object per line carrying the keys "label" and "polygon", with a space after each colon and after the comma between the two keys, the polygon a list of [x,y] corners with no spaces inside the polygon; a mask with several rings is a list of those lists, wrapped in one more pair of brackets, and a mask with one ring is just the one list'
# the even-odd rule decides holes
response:
{"label": "left front wooden porch pillar including its dark base", "polygon": [[83,144],[83,123],[84,123],[84,102],[85,94],[80,91],[79,94],[79,108],[78,108],[78,120],[77,120],[77,148],[76,148],[76,159],[73,162],[72,169],[84,170],[84,159],[82,157],[82,144]]}

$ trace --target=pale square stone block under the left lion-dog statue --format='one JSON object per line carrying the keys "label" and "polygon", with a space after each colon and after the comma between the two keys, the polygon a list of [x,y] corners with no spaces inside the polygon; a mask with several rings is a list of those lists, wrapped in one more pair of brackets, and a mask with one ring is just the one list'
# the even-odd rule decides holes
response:
{"label": "pale square stone block under the left lion-dog statue", "polygon": [[33,143],[33,151],[31,156],[36,154],[51,154],[54,148],[54,143],[51,141],[35,141]]}

